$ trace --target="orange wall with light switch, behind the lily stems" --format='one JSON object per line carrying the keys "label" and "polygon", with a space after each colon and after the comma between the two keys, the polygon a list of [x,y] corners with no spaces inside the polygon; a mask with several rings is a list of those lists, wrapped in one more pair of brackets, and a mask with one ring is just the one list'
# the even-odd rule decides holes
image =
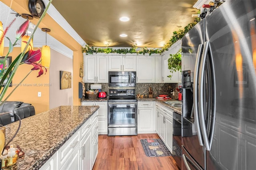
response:
{"label": "orange wall with light switch, behind the lily stems", "polygon": [[[5,47],[4,56],[6,55],[7,51],[8,47]],[[8,56],[12,56],[13,61],[20,52],[20,47],[14,47],[12,53],[10,53]],[[20,65],[12,79],[12,84],[20,83],[20,81],[29,73],[32,68],[32,65]],[[36,113],[49,110],[49,86],[47,86],[49,84],[49,75],[49,69],[47,69],[46,74],[41,75],[40,77],[36,77],[38,76],[38,70],[32,71],[30,75],[28,75],[28,77],[23,81],[23,83],[21,83],[21,85],[14,91],[14,93],[12,93],[12,95],[8,98],[8,101],[22,101],[24,103],[31,103],[35,107]],[[41,84],[42,86],[40,87],[36,86]],[[15,87],[15,85],[9,87],[8,91],[6,92],[6,96]],[[42,97],[38,97],[38,91],[42,93]]]}

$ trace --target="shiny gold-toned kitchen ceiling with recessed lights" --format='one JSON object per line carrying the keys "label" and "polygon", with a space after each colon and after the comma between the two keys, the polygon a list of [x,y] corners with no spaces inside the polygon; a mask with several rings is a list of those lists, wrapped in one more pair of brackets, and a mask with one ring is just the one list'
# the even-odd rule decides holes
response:
{"label": "shiny gold-toned kitchen ceiling with recessed lights", "polygon": [[[194,21],[197,0],[53,0],[78,35],[96,47],[163,47]],[[121,16],[130,17],[120,22]],[[120,34],[127,34],[125,38]]]}

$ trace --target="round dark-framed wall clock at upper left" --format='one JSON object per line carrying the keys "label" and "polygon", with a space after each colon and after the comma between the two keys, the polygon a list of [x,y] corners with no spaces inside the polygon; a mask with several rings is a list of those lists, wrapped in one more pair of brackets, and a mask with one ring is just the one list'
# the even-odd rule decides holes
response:
{"label": "round dark-framed wall clock at upper left", "polygon": [[28,0],[28,9],[34,18],[40,18],[45,10],[42,0]]}

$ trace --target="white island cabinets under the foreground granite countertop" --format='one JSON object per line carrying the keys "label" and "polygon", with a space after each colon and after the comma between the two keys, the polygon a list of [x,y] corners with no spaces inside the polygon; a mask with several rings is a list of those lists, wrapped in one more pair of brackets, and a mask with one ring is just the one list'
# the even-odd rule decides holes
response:
{"label": "white island cabinets under the foreground granite countertop", "polygon": [[54,153],[40,170],[92,170],[97,154],[98,111]]}

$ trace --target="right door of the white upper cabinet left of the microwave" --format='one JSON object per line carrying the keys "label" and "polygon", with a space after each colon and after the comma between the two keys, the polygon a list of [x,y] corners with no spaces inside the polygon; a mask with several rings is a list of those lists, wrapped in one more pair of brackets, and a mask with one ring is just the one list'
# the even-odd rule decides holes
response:
{"label": "right door of the white upper cabinet left of the microwave", "polygon": [[108,56],[97,55],[97,83],[108,83]]}

